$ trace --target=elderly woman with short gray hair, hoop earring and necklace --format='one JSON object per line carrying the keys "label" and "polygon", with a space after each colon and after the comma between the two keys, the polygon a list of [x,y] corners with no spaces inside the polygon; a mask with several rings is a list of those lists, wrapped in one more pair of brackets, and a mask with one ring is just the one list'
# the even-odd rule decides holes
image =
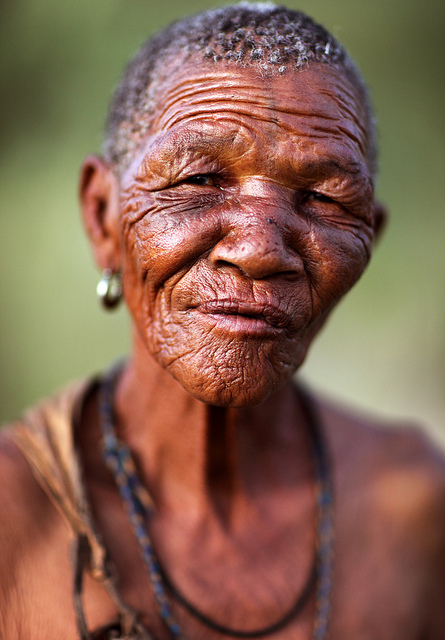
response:
{"label": "elderly woman with short gray hair, hoop earring and necklace", "polygon": [[292,380],[369,261],[374,176],[362,80],[305,15],[142,47],[80,189],[133,353],[3,433],[2,638],[444,637],[443,460]]}

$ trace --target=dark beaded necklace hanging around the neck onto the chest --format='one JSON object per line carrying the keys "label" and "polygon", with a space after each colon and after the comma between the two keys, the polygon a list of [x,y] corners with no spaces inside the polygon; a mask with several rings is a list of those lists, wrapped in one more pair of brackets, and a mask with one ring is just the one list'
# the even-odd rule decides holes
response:
{"label": "dark beaded necklace hanging around the neck onto the chest", "polygon": [[165,570],[161,567],[153,543],[146,528],[152,505],[147,500],[147,492],[139,480],[131,452],[125,443],[118,440],[114,426],[113,393],[122,365],[114,367],[104,376],[99,397],[101,416],[102,455],[119,489],[128,519],[136,536],[142,559],[148,571],[158,614],[170,630],[174,640],[183,638],[179,624],[171,611],[166,589],[178,603],[202,624],[227,635],[238,638],[259,638],[271,635],[286,626],[303,609],[316,583],[316,613],[312,640],[326,640],[331,610],[332,591],[332,548],[333,548],[333,499],[329,474],[328,458],[323,446],[321,431],[312,402],[306,393],[299,391],[300,400],[307,417],[312,437],[312,449],[315,463],[316,500],[318,511],[317,541],[315,562],[309,579],[301,595],[292,608],[277,622],[254,631],[241,631],[220,625],[211,620],[173,585]]}

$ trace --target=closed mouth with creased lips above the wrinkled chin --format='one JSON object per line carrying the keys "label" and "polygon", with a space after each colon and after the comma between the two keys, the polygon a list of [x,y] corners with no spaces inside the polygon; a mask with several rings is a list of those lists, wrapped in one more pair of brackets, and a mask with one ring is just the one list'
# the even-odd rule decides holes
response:
{"label": "closed mouth with creased lips above the wrinkled chin", "polygon": [[241,300],[209,300],[195,307],[216,326],[241,333],[282,332],[291,318],[278,307],[270,304]]}

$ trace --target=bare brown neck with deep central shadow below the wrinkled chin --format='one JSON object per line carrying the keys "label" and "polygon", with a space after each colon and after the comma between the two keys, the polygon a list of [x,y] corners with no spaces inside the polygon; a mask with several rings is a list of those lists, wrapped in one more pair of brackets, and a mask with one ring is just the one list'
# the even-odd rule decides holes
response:
{"label": "bare brown neck with deep central shadow below the wrinkled chin", "polygon": [[256,407],[215,407],[136,347],[116,389],[117,430],[158,509],[197,518],[211,510],[228,524],[256,495],[307,477],[311,456],[291,383]]}

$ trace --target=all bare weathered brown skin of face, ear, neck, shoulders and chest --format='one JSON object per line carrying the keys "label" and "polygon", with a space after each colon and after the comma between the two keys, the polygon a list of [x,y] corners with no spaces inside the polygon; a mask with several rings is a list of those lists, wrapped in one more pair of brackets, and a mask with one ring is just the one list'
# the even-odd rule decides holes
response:
{"label": "all bare weathered brown skin of face, ear, neck, shoulders and chest", "polygon": [[[290,377],[362,274],[382,209],[363,107],[338,71],[263,78],[182,64],[158,96],[125,173],[91,157],[82,175],[97,263],[122,269],[134,323],[118,431],[153,495],[150,531],[175,583],[216,620],[257,628],[294,602],[314,553],[313,465]],[[124,599],[164,640],[101,462],[96,402],[79,447],[97,526]],[[336,494],[331,640],[440,640],[443,460],[416,432],[320,411]],[[0,633],[74,640],[68,532],[7,442],[2,456]],[[91,629],[115,618],[91,579],[84,601]],[[221,637],[177,614],[189,639]],[[309,640],[313,618],[311,601],[273,637]]]}

